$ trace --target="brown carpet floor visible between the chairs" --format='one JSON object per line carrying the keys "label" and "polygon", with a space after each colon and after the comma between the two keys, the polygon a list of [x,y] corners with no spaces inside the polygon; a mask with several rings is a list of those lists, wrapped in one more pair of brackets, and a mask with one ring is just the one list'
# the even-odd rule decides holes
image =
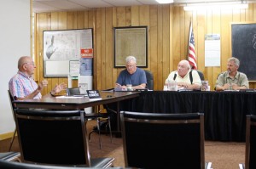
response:
{"label": "brown carpet floor visible between the chairs", "polygon": [[[87,123],[88,131],[95,124],[95,121],[89,121]],[[0,152],[8,151],[9,144],[10,138],[0,141]],[[17,137],[15,137],[11,150],[20,151]],[[102,149],[99,149],[98,134],[92,133],[90,155],[92,158],[114,157],[113,166],[125,167],[122,138],[113,137],[111,143],[109,135],[102,134]],[[212,168],[214,169],[238,169],[238,164],[245,161],[245,143],[206,141],[205,159],[212,162]]]}

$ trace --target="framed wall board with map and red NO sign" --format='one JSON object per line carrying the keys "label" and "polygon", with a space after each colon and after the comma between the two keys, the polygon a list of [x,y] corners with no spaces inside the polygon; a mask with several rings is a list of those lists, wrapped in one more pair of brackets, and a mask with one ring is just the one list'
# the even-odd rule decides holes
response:
{"label": "framed wall board with map and red NO sign", "polygon": [[93,58],[92,29],[44,31],[43,34],[44,77],[68,76],[70,60]]}

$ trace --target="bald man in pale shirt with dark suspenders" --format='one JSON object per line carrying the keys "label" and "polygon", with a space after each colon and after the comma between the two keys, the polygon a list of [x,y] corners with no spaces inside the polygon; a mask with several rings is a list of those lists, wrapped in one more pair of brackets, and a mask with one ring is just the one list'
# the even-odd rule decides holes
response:
{"label": "bald man in pale shirt with dark suspenders", "polygon": [[192,70],[192,77],[193,82],[190,81],[189,78],[189,72],[191,71],[189,61],[188,60],[181,60],[177,65],[177,70],[172,71],[170,75],[166,79],[166,84],[168,84],[168,81],[174,80],[177,82],[177,89],[195,89],[200,90],[201,89],[201,79],[198,75],[197,71]]}

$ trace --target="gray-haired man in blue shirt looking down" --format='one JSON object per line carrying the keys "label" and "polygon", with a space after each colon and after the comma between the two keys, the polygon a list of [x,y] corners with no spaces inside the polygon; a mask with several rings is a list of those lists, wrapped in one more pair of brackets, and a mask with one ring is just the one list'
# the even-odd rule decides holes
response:
{"label": "gray-haired man in blue shirt looking down", "polygon": [[145,88],[147,84],[146,74],[144,70],[137,68],[136,58],[128,56],[125,61],[126,69],[120,72],[115,87],[127,88],[127,85],[131,84],[132,90]]}

